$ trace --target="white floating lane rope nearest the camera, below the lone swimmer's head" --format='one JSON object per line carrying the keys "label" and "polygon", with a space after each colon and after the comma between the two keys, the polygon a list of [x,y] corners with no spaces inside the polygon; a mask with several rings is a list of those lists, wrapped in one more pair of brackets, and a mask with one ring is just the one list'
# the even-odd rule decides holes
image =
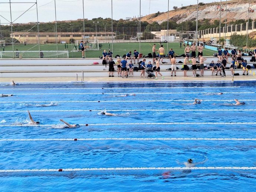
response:
{"label": "white floating lane rope nearest the camera, below the lone swimmer's head", "polygon": [[6,169],[0,173],[12,172],[72,172],[72,171],[136,171],[136,170],[255,170],[256,167],[126,167],[126,168],[76,168],[76,169]]}

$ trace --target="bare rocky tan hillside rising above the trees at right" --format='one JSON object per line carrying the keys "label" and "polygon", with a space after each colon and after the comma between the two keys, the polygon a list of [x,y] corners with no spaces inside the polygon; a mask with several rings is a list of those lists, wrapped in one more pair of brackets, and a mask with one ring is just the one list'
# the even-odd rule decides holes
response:
{"label": "bare rocky tan hillside rising above the trees at right", "polygon": [[[199,1],[200,2],[200,1]],[[217,6],[220,5],[220,2],[217,3],[206,3],[204,5],[198,6],[198,20],[210,19],[211,21],[219,20],[220,18],[220,9],[217,9]],[[227,1],[227,22],[234,21],[237,19],[247,19],[248,18],[248,0],[231,0]],[[256,19],[256,0],[250,0],[250,7],[255,9],[254,13],[250,13],[250,18]],[[222,2],[221,9],[226,10],[226,1]],[[183,21],[195,20],[197,13],[197,5],[186,6],[186,8],[178,8],[176,10],[169,11],[169,18],[177,23]],[[221,20],[225,20],[226,11],[221,12]],[[167,21],[168,13],[161,13],[157,17],[155,14],[150,14],[145,17],[142,17],[142,21],[148,21],[152,23],[154,21],[162,23]]]}

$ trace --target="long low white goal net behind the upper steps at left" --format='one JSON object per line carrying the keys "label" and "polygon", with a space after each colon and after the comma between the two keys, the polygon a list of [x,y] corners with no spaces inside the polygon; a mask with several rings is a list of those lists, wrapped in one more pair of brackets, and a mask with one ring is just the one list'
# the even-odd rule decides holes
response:
{"label": "long low white goal net behind the upper steps at left", "polygon": [[0,58],[69,58],[68,51],[0,51]]}

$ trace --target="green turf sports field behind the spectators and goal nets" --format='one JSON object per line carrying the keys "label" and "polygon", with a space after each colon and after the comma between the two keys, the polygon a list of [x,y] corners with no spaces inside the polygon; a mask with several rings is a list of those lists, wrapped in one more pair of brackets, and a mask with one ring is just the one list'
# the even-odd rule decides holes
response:
{"label": "green turf sports field behind the spectators and goal nets", "polygon": [[[140,43],[114,43],[113,44],[113,56],[116,54],[123,56],[124,54],[133,51],[136,49],[138,52],[142,53],[143,55],[147,55],[148,53],[152,53],[152,45],[154,43],[141,43],[141,49],[140,49]],[[159,49],[160,44],[157,44],[157,49]],[[74,44],[73,44],[74,46]],[[175,54],[180,55],[184,54],[184,48],[182,45],[182,48],[180,49],[180,43],[168,43],[168,50],[167,50],[167,43],[163,43],[163,46],[165,48],[165,53],[167,54],[170,48],[173,48]],[[110,44],[110,48],[112,48],[112,44]],[[27,44],[24,46],[23,44],[15,44],[14,45],[14,52],[16,52],[16,49],[19,51],[38,51],[39,46],[36,44]],[[87,50],[85,52],[86,58],[98,58],[99,56],[102,56],[102,52],[106,49],[108,51],[108,43],[102,43],[102,49],[101,50]],[[41,44],[40,50],[43,51],[56,51],[57,47],[56,44]],[[58,44],[58,51],[64,51],[65,47],[64,44]],[[6,46],[5,51],[12,51],[12,45]],[[82,53],[81,52],[72,52],[72,45],[68,44],[68,51],[69,51],[69,57],[70,58],[81,58]],[[217,52],[217,51],[216,51]],[[204,49],[203,54],[204,56],[213,56],[213,53],[216,53],[213,50]]]}

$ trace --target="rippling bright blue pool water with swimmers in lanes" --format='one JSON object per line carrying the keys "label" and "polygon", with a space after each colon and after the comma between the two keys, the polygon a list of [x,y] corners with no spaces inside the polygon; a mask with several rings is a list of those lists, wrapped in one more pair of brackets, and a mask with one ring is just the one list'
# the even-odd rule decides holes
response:
{"label": "rippling bright blue pool water with swimmers in lanes", "polygon": [[[255,87],[253,81],[2,84],[0,94],[14,96],[0,97],[0,139],[256,138]],[[194,98],[203,101],[192,105]],[[234,99],[246,104],[231,105]],[[39,126],[26,125],[27,110]],[[104,110],[116,116],[100,115]],[[81,126],[63,128],[59,119]],[[254,140],[0,141],[0,170],[185,167],[189,158],[195,167],[255,167],[255,153]],[[0,191],[215,192],[256,186],[255,170],[166,172],[0,173]]]}

